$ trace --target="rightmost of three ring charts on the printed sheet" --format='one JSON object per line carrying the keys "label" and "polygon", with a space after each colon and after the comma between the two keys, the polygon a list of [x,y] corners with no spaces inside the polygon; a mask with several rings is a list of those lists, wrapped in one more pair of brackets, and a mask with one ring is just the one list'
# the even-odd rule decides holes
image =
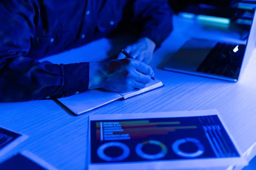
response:
{"label": "rightmost of three ring charts on the printed sheet", "polygon": [[[193,153],[187,153],[184,152],[182,150],[180,150],[180,145],[181,144],[185,144],[187,142],[192,142],[194,143],[197,147],[198,150],[193,152]],[[204,146],[200,143],[200,141],[198,139],[194,139],[194,138],[185,138],[185,139],[179,139],[177,141],[175,141],[172,144],[172,150],[174,151],[174,153],[176,153],[178,156],[181,156],[183,158],[196,158],[198,156],[201,156],[204,153]]]}

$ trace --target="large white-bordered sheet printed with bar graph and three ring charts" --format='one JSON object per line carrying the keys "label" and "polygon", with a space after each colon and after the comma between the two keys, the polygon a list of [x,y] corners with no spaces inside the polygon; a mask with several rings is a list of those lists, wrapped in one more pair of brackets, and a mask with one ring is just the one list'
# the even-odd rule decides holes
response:
{"label": "large white-bordered sheet printed with bar graph and three ring charts", "polygon": [[247,164],[216,110],[90,115],[89,121],[89,170]]}

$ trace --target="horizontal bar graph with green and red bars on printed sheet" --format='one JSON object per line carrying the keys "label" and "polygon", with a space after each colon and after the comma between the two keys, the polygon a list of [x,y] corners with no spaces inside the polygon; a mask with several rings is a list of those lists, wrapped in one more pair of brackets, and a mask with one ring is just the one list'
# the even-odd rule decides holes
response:
{"label": "horizontal bar graph with green and red bars on printed sheet", "polygon": [[129,140],[163,135],[179,129],[195,129],[196,126],[179,126],[180,122],[149,122],[149,120],[125,122],[97,122],[97,140]]}

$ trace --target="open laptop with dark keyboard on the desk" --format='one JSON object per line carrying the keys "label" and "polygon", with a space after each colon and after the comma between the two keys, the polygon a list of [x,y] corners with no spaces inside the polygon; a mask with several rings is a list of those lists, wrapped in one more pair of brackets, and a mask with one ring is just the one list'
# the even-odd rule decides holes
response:
{"label": "open laptop with dark keyboard on the desk", "polygon": [[163,68],[185,74],[237,82],[256,45],[256,12],[246,44],[190,39]]}

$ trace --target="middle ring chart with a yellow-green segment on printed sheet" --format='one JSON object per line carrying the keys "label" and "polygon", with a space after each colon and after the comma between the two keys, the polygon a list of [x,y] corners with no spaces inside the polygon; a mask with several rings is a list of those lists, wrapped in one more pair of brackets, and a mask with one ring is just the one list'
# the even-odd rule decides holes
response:
{"label": "middle ring chart with a yellow-green segment on printed sheet", "polygon": [[[157,153],[157,154],[144,153],[142,148],[145,144],[155,144],[155,145],[159,146],[161,148],[160,153]],[[163,144],[159,141],[149,140],[149,141],[145,141],[145,142],[137,144],[136,148],[135,148],[135,151],[136,151],[137,155],[140,156],[143,159],[155,160],[155,159],[161,159],[164,156],[166,156],[167,147],[166,147],[165,144]]]}

